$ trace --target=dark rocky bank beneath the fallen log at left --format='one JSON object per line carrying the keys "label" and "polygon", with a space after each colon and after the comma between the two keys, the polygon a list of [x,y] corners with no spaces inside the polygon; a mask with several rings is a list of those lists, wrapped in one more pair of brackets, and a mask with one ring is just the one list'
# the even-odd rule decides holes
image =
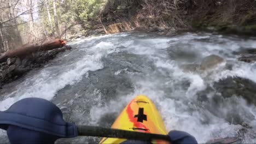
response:
{"label": "dark rocky bank beneath the fallen log at left", "polygon": [[71,50],[71,46],[66,45],[59,49],[32,53],[23,58],[8,58],[6,62],[0,63],[0,88],[6,83],[19,79],[32,69],[43,67],[58,53],[67,50]]}

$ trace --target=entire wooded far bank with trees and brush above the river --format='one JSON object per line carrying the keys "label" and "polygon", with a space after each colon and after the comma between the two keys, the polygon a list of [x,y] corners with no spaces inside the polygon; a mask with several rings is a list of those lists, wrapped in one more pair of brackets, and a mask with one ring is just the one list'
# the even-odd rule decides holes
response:
{"label": "entire wooded far bank with trees and brush above the river", "polygon": [[255,35],[256,1],[0,0],[0,50],[54,38],[150,29]]}

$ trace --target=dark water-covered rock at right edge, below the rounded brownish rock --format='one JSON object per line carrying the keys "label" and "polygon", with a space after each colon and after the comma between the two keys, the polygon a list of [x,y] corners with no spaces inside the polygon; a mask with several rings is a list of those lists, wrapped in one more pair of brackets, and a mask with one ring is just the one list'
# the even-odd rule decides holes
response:
{"label": "dark water-covered rock at right edge, below the rounded brownish rock", "polygon": [[229,98],[232,95],[242,97],[249,104],[256,105],[256,83],[242,77],[228,77],[213,85],[223,97]]}

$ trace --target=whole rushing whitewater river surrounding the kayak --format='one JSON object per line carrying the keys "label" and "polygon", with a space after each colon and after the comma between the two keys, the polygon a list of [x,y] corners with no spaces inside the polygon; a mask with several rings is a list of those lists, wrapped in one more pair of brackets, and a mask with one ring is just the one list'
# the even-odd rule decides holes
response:
{"label": "whole rushing whitewater river surrounding the kayak", "polygon": [[[238,55],[232,54],[256,48],[255,39],[210,33],[173,37],[120,33],[77,39],[70,45],[72,51],[0,89],[0,110],[20,99],[44,98],[57,104],[68,122],[110,127],[130,100],[144,94],[158,107],[167,130],[187,131],[202,143],[237,136],[242,125],[233,121],[239,118],[251,127],[243,142],[256,142],[254,105],[236,95],[222,98],[217,90],[204,92],[228,76],[256,82],[256,63],[237,61]],[[200,63],[212,54],[225,62],[211,73],[182,71],[182,64]],[[78,137],[58,142],[99,141],[97,137]],[[1,130],[0,143],[6,142]]]}

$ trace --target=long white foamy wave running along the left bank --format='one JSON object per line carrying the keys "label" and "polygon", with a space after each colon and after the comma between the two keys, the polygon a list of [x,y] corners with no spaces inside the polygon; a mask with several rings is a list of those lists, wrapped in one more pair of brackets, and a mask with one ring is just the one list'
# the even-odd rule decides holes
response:
{"label": "long white foamy wave running along the left bank", "polygon": [[[102,36],[109,37],[109,36]],[[92,41],[100,38],[89,38]],[[78,43],[86,43],[84,40]],[[116,52],[115,46],[110,42],[103,42],[94,44],[91,47],[85,47],[80,51],[86,50],[84,56],[77,61],[66,65],[52,65],[46,67],[38,72],[37,75],[22,82],[17,91],[5,95],[5,99],[0,101],[0,110],[8,109],[16,101],[36,97],[51,100],[54,98],[57,91],[64,88],[66,85],[73,85],[82,79],[83,75],[89,70],[95,71],[103,68],[101,58],[108,53]],[[65,58],[65,57],[63,57]]]}

